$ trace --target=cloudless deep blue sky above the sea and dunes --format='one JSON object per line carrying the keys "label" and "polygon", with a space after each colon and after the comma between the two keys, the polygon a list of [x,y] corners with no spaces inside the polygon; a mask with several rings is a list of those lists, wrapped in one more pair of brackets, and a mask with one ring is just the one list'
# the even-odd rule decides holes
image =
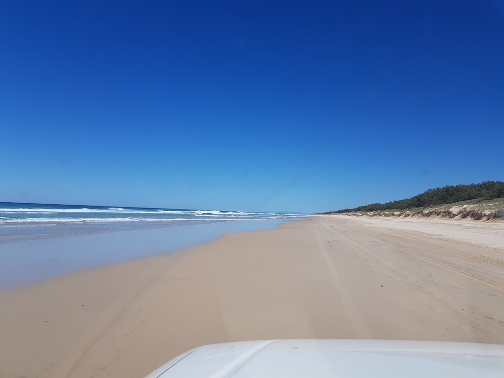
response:
{"label": "cloudless deep blue sky above the sea and dunes", "polygon": [[0,201],[322,212],[504,180],[504,5],[0,5]]}

